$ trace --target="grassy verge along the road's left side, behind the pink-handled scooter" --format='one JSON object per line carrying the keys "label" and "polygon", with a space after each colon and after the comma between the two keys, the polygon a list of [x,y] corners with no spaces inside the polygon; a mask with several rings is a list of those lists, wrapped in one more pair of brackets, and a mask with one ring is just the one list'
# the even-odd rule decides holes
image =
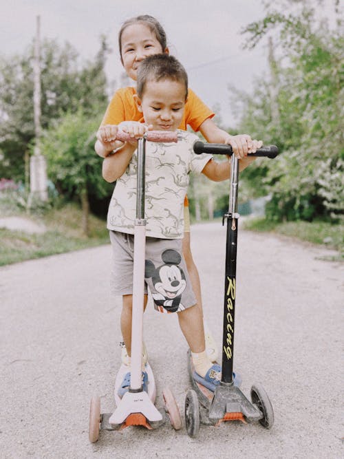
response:
{"label": "grassy verge along the road's left side, behind the pink-handled scooter", "polygon": [[32,221],[44,224],[47,231],[31,234],[0,228],[0,266],[109,243],[106,222],[94,215],[89,217],[89,237],[83,235],[81,211],[74,204],[50,209],[40,217],[26,213],[16,213],[15,216],[30,217]]}

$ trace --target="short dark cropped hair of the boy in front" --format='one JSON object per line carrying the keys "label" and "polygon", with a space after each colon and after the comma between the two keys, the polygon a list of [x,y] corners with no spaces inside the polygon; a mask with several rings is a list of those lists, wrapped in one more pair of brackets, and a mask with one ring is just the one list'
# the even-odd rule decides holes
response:
{"label": "short dark cropped hair of the boy in front", "polygon": [[136,92],[140,98],[148,81],[173,80],[184,83],[185,100],[188,96],[188,75],[186,70],[173,56],[169,54],[153,54],[147,56],[138,66],[138,81]]}

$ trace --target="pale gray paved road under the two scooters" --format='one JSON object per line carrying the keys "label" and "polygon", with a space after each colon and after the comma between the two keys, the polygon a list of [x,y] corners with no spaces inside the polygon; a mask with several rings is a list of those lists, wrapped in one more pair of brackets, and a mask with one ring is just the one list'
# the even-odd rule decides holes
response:
{"label": "pale gray paved road under the two scooters", "polygon": [[[192,228],[208,323],[221,343],[225,230]],[[204,250],[206,248],[206,250]],[[203,250],[202,250],[203,249]],[[266,387],[275,425],[228,423],[103,432],[88,442],[89,398],[102,409],[120,363],[118,300],[109,295],[103,246],[0,268],[1,458],[339,458],[343,457],[343,264],[289,239],[241,232],[235,367],[249,394]],[[184,409],[186,343],[175,317],[151,310],[144,333],[162,387]]]}

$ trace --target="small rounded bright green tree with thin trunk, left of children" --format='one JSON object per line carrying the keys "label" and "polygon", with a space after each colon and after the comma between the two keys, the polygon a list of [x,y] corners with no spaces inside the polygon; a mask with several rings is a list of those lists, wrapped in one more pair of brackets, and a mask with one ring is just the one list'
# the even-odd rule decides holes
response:
{"label": "small rounded bright green tree with thin trunk, left of children", "polygon": [[50,179],[67,198],[80,200],[83,227],[88,234],[89,195],[104,198],[113,185],[103,180],[101,160],[94,152],[99,116],[90,117],[79,109],[67,113],[47,129],[41,141],[41,151],[47,158]]}

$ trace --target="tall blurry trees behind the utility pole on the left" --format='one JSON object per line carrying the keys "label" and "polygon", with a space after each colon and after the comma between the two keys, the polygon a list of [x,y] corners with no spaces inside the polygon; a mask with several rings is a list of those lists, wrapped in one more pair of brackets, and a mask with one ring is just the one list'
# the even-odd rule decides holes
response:
{"label": "tall blurry trees behind the utility pole on the left", "polygon": [[[34,139],[33,45],[22,56],[0,58],[0,177],[24,180],[24,155]],[[107,104],[104,72],[107,44],[102,39],[93,61],[80,64],[66,43],[41,45],[41,125],[80,107],[90,116]]]}

